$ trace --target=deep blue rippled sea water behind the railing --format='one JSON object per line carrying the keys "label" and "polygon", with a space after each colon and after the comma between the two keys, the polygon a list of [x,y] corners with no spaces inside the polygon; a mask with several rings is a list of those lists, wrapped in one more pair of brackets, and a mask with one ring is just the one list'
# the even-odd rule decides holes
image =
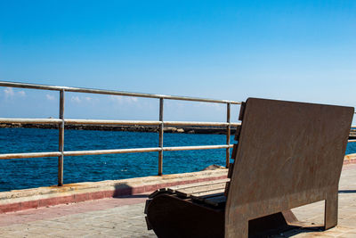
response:
{"label": "deep blue rippled sea water behind the railing", "polygon": [[[231,136],[231,144],[233,136]],[[225,144],[225,135],[165,134],[165,146]],[[158,134],[66,130],[65,150],[104,150],[157,147]],[[55,152],[58,130],[0,128],[0,153]],[[356,152],[348,144],[346,154]],[[0,191],[57,184],[57,158],[0,160]],[[165,152],[164,174],[198,171],[224,165],[225,151]],[[64,183],[151,176],[158,173],[158,152],[127,153],[64,158]]]}

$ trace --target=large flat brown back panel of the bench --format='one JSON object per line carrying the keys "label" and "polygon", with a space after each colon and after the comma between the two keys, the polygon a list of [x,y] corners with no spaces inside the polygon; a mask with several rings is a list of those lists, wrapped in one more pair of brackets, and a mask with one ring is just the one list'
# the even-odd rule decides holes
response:
{"label": "large flat brown back panel of the bench", "polygon": [[227,226],[337,193],[353,111],[248,98],[232,158]]}

